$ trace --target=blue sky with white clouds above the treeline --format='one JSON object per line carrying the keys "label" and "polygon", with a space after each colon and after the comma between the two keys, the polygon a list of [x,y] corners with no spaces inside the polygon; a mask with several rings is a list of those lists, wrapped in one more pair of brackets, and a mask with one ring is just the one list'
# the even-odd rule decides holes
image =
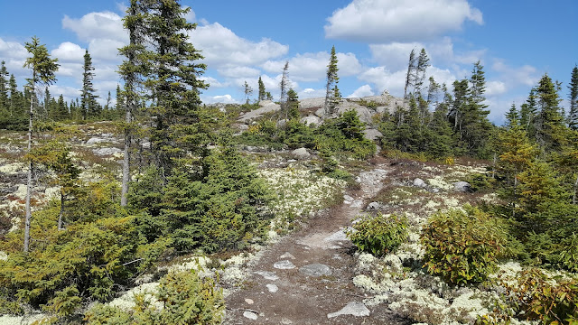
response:
{"label": "blue sky with white clouds above the treeline", "polygon": [[[489,119],[501,124],[515,103],[547,73],[568,82],[578,63],[578,1],[575,0],[182,0],[197,23],[191,43],[207,64],[202,79],[205,103],[242,103],[245,81],[279,97],[284,62],[299,98],[324,97],[331,47],[338,57],[344,97],[403,96],[409,52],[425,49],[428,76],[449,88],[469,78],[480,60],[487,81]],[[24,42],[37,36],[61,64],[53,96],[79,97],[86,50],[95,67],[99,100],[113,103],[117,48],[128,42],[122,17],[128,1],[0,1],[0,60],[19,86],[30,77],[23,69]],[[25,8],[23,8],[23,6]],[[563,106],[567,106],[564,100]]]}

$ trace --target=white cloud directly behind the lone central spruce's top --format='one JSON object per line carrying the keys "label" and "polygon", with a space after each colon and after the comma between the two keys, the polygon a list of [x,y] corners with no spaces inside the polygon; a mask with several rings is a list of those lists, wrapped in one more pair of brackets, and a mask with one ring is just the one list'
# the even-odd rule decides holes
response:
{"label": "white cloud directly behind the lone central spruce's top", "polygon": [[[362,68],[359,60],[353,53],[337,53],[338,75],[348,77],[358,74]],[[329,52],[316,52],[297,54],[289,59],[289,74],[296,81],[319,81],[325,79],[327,65],[331,54]],[[268,60],[262,68],[268,72],[281,72],[284,68],[284,60]]]}

